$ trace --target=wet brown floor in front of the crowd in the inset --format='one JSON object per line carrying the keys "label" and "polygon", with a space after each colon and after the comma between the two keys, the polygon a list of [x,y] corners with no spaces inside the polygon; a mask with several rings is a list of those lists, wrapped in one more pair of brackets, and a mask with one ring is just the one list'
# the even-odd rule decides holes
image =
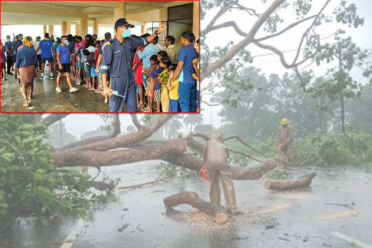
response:
{"label": "wet brown floor in front of the crowd in the inset", "polygon": [[[40,79],[40,72],[35,78],[30,107],[22,106],[22,86],[17,84],[14,76],[7,76],[7,81],[1,81],[1,112],[110,112],[108,104],[104,103],[105,97],[83,85],[78,86],[73,82],[73,86],[79,90],[69,93],[65,76],[61,79],[62,92],[58,93],[55,91],[57,79],[49,79],[47,66],[45,69],[44,80]],[[57,73],[54,75],[57,76]]]}

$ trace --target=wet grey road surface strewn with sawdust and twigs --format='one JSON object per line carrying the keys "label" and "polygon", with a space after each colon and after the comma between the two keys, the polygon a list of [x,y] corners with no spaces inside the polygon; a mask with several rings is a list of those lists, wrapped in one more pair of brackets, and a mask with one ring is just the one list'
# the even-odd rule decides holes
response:
{"label": "wet grey road surface strewn with sawdust and twigs", "polygon": [[[103,172],[121,177],[121,185],[136,184],[157,176],[155,164],[108,167]],[[75,237],[66,243],[73,248],[352,247],[330,232],[372,245],[372,174],[353,169],[312,171],[318,175],[311,187],[288,192],[265,190],[263,180],[236,181],[238,207],[245,214],[224,225],[190,212],[189,206],[177,208],[187,212],[166,211],[163,198],[174,193],[196,191],[208,199],[208,183],[186,178],[118,191],[118,202],[93,210],[76,233],[71,233],[76,220],[21,219],[8,230],[4,247],[57,248],[68,234]]]}

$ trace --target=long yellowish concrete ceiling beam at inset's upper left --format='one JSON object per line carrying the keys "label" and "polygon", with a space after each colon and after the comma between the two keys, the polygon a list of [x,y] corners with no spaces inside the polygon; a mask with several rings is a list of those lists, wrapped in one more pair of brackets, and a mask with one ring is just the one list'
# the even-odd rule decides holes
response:
{"label": "long yellowish concrete ceiling beam at inset's upper left", "polygon": [[35,6],[35,5],[28,5],[28,4],[22,4],[22,3],[9,3],[9,2],[1,3],[1,12],[24,13],[24,14],[48,13],[48,15],[50,16],[66,16],[66,13],[68,13],[68,16],[70,17],[83,16],[83,12],[80,10]]}

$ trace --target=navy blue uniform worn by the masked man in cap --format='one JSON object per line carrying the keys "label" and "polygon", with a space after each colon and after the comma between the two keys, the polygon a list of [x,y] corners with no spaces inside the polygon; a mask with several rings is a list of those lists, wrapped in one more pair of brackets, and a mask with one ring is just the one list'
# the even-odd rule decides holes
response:
{"label": "navy blue uniform worn by the masked man in cap", "polygon": [[120,42],[116,37],[109,41],[102,54],[101,71],[108,74],[110,67],[110,88],[119,95],[110,97],[110,112],[123,112],[124,105],[128,112],[137,112],[136,83],[132,72],[132,51],[137,46],[148,44],[147,39],[124,38]]}

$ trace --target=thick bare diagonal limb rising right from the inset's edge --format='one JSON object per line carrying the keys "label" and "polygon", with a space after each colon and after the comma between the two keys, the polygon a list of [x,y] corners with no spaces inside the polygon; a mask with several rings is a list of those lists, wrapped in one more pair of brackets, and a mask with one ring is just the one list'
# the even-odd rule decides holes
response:
{"label": "thick bare diagonal limb rising right from the inset's edge", "polygon": [[230,61],[238,52],[243,50],[248,44],[250,44],[254,36],[256,35],[257,31],[260,27],[265,23],[266,19],[276,10],[278,7],[284,3],[285,0],[275,0],[270,7],[259,17],[259,19],[254,23],[249,33],[247,33],[246,38],[243,41],[239,42],[237,45],[233,46],[230,51],[228,51],[225,55],[223,55],[220,59],[213,62],[212,64],[208,65],[205,68],[203,73],[203,78],[208,78],[215,70],[225,65],[228,61]]}

